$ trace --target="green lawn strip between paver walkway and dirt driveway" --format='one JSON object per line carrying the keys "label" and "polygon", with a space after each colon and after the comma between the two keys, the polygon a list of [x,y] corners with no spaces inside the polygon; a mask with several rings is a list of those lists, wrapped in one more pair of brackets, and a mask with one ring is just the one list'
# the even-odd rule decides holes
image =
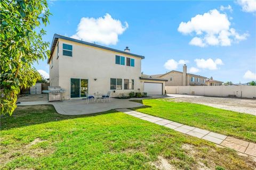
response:
{"label": "green lawn strip between paver walkway and dirt driveway", "polygon": [[145,107],[134,108],[138,112],[256,142],[256,116],[254,115],[200,104],[176,102],[174,99],[134,101],[145,105]]}

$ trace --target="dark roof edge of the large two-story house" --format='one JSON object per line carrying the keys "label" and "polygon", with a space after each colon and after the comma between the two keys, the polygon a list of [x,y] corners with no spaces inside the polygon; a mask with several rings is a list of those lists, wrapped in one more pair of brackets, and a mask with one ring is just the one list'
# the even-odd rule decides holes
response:
{"label": "dark roof edge of the large two-story house", "polygon": [[101,49],[107,49],[107,50],[110,50],[110,51],[113,51],[113,52],[117,52],[117,53],[122,53],[122,54],[127,54],[127,55],[131,55],[131,56],[135,56],[135,57],[140,57],[141,59],[145,58],[142,55],[137,55],[137,54],[133,54],[133,53],[127,53],[127,52],[124,52],[122,50],[118,50],[118,49],[114,49],[114,48],[109,48],[109,47],[105,47],[105,46],[101,46],[101,45],[97,45],[97,44],[93,44],[93,43],[88,43],[86,41],[82,41],[82,40],[78,40],[78,39],[74,39],[74,38],[70,38],[70,37],[66,37],[66,36],[61,36],[61,35],[58,35],[57,33],[55,33],[54,36],[53,36],[53,39],[52,39],[51,55],[50,55],[50,58],[47,61],[48,64],[51,61],[54,48],[57,45],[57,42],[58,42],[59,38],[60,39],[65,39],[65,40],[69,40],[69,41],[73,41],[73,42],[76,42],[76,43],[81,43],[81,44],[85,44],[85,45],[101,48]]}

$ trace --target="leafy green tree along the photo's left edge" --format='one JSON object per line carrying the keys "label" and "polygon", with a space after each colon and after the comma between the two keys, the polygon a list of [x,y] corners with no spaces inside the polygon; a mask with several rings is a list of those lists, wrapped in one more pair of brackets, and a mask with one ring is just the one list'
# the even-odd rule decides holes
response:
{"label": "leafy green tree along the photo's left edge", "polygon": [[40,28],[49,23],[46,0],[1,0],[1,114],[12,114],[22,87],[30,87],[40,78],[34,62],[50,55],[49,43]]}

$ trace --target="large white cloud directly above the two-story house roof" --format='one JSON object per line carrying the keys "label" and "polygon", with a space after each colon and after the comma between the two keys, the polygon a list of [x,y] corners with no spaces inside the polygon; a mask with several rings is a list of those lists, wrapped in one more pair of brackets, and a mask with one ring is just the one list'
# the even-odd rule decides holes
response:
{"label": "large white cloud directly above the two-story house roof", "polygon": [[98,42],[105,45],[116,45],[118,35],[128,28],[128,23],[113,19],[108,13],[100,18],[83,17],[77,26],[77,32],[71,38],[83,39],[91,43]]}

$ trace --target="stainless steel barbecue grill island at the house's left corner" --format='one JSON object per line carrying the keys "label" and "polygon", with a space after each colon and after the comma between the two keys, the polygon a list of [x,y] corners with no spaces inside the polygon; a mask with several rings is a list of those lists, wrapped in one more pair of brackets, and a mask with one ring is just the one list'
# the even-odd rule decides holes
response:
{"label": "stainless steel barbecue grill island at the house's left corner", "polygon": [[48,86],[48,90],[43,90],[42,92],[48,94],[48,101],[60,101],[64,89],[61,89],[60,86]]}

